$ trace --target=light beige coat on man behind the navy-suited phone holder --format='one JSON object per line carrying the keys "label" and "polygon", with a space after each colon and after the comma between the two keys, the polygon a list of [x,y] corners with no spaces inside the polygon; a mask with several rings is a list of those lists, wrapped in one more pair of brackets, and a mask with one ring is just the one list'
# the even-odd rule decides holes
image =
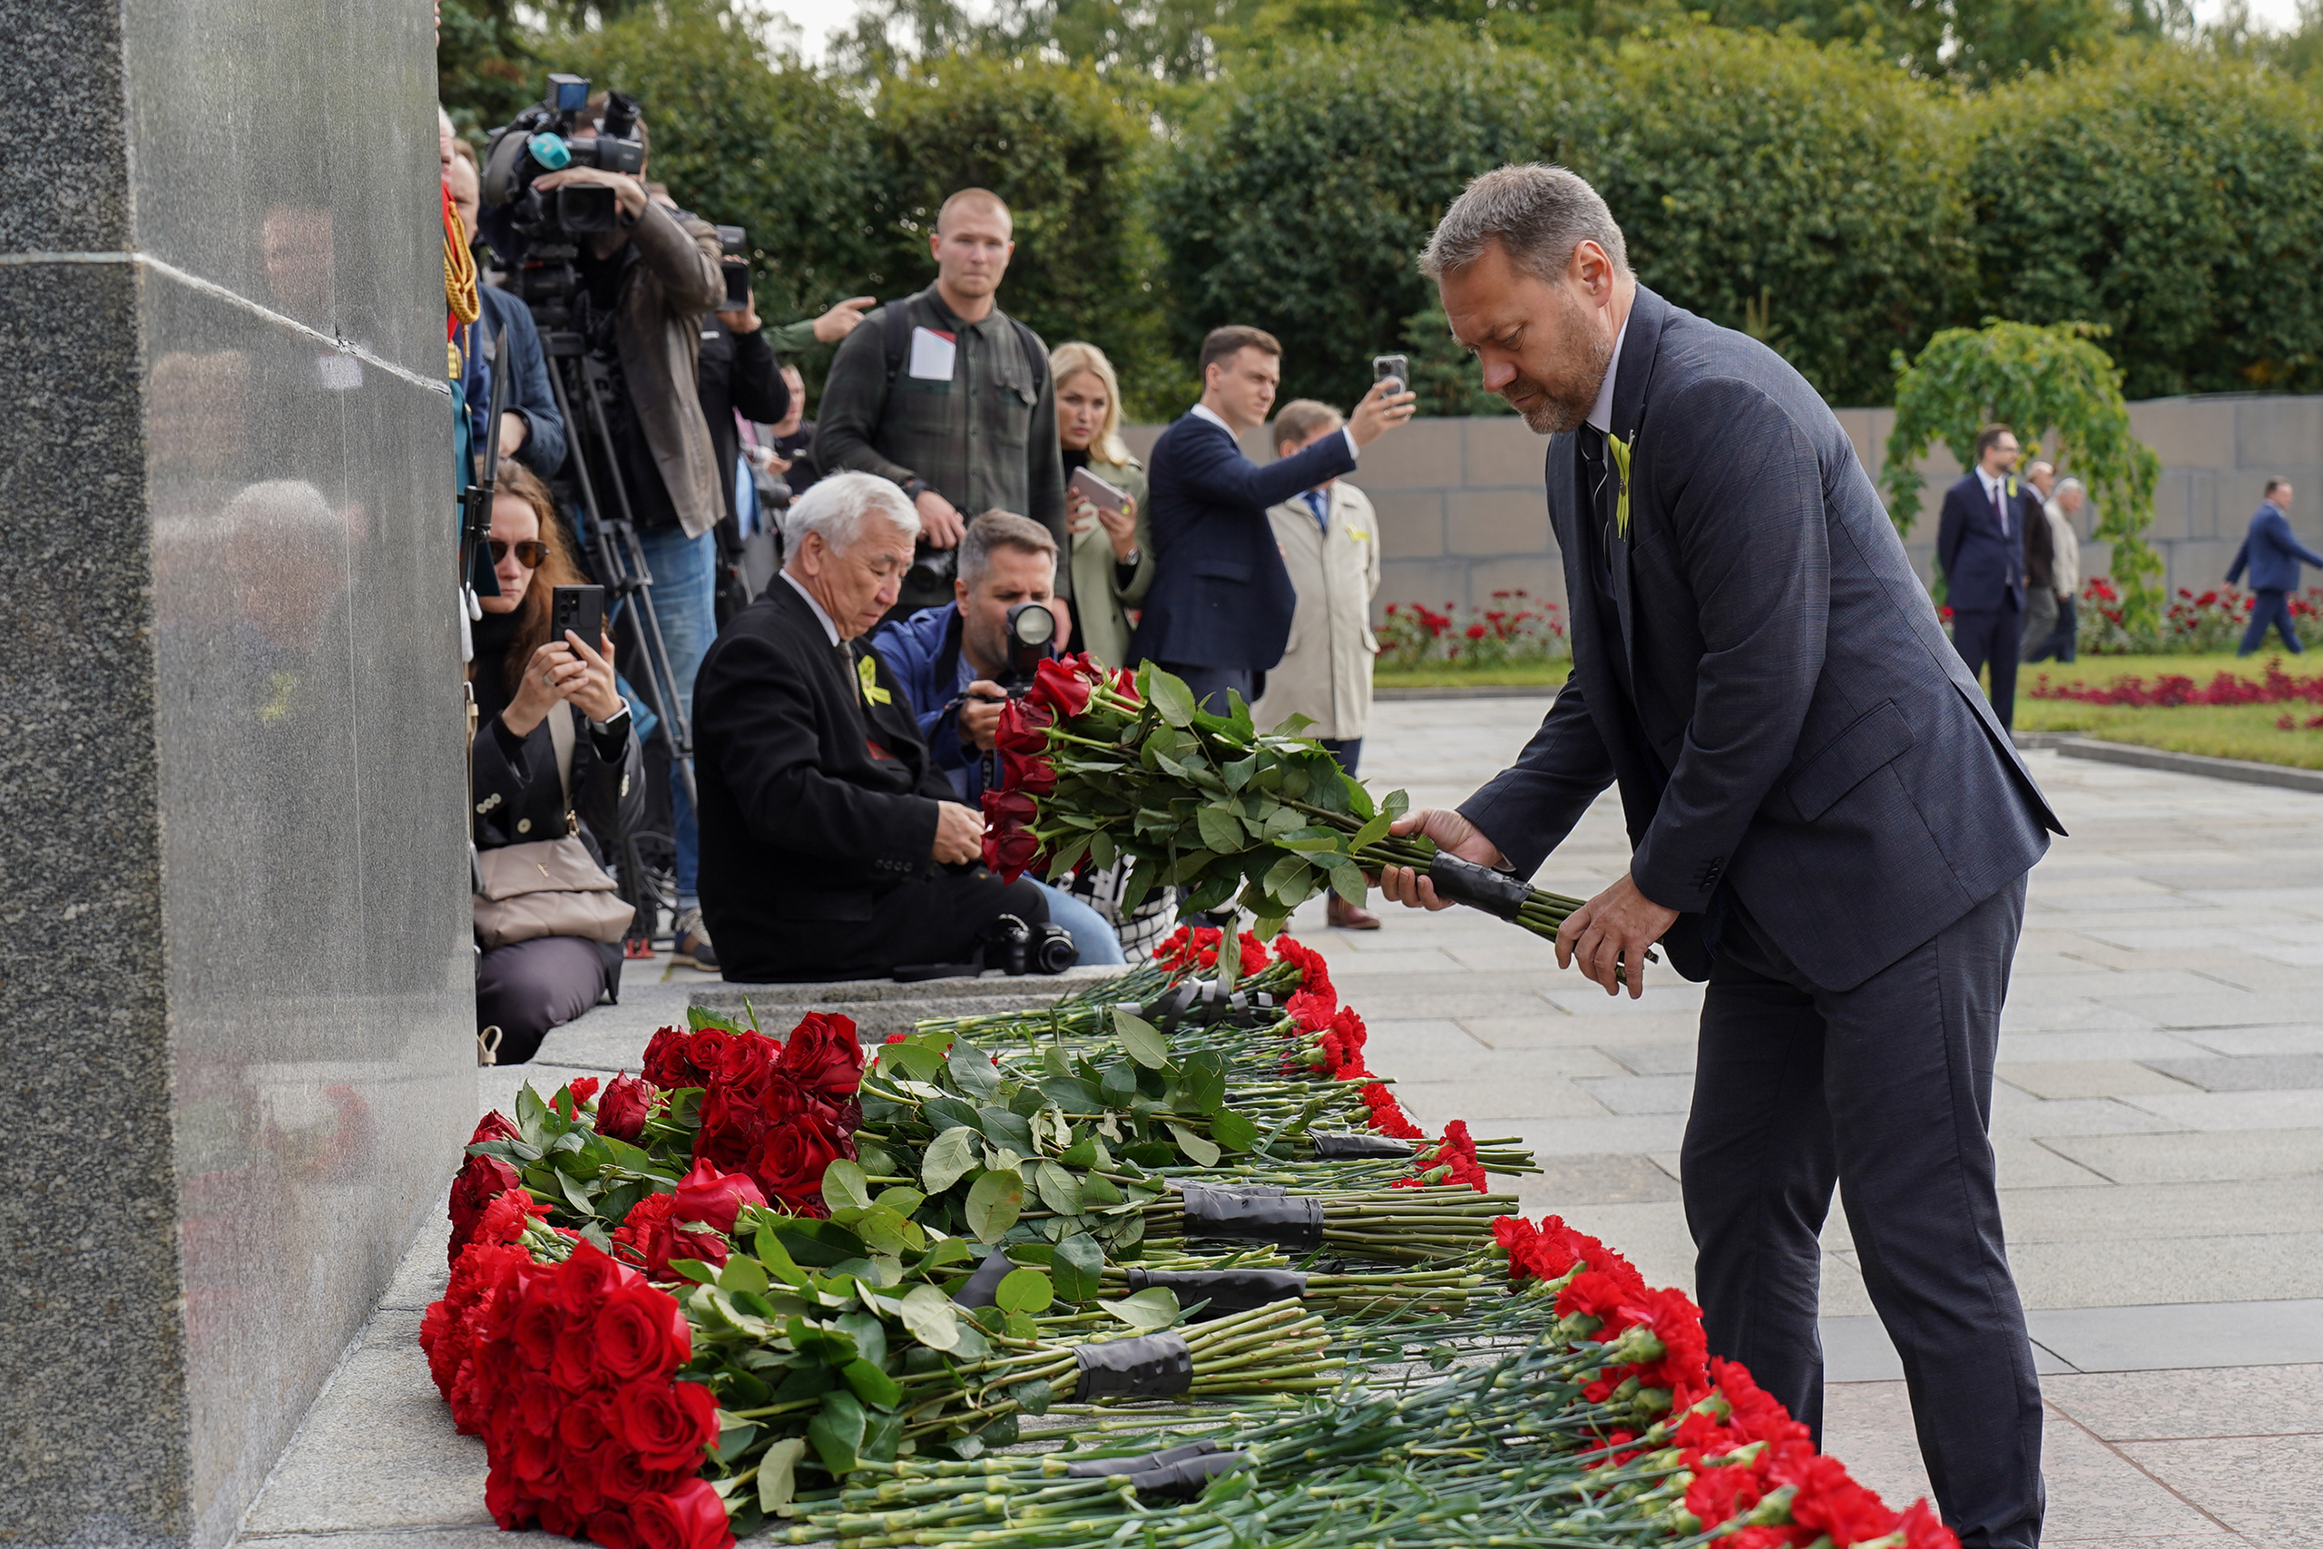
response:
{"label": "light beige coat on man behind the navy-suited phone holder", "polygon": [[1273,506],[1266,520],[1282,546],[1299,608],[1282,660],[1266,669],[1266,692],[1250,708],[1259,729],[1287,715],[1315,725],[1303,736],[1350,741],[1371,725],[1371,595],[1380,590],[1380,523],[1371,499],[1345,478],[1331,485],[1331,532],[1324,536],[1303,495]]}

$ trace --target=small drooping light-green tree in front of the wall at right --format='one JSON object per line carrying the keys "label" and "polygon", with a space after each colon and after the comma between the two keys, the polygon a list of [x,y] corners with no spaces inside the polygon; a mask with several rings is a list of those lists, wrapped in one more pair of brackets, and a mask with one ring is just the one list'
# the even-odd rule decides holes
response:
{"label": "small drooping light-green tree in front of the wall at right", "polygon": [[1886,444],[1889,516],[1898,532],[1919,518],[1919,460],[1942,441],[1968,467],[1977,432],[2000,420],[2026,446],[2056,434],[2056,464],[2088,485],[2098,504],[2095,536],[2114,546],[2112,574],[2135,625],[2160,615],[2160,555],[2144,541],[2153,523],[2160,458],[2130,434],[2121,372],[2093,344],[2102,327],[2088,323],[2002,323],[1947,327],[1919,360],[1896,369],[1896,430]]}

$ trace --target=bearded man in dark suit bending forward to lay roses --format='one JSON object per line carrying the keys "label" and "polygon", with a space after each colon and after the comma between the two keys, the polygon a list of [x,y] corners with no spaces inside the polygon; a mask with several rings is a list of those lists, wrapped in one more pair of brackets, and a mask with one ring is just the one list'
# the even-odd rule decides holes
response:
{"label": "bearded man in dark suit bending forward to lay roses", "polygon": [[[1628,876],[1556,961],[1707,980],[1684,1140],[1710,1349],[1821,1421],[1817,1235],[1840,1187],[1963,1544],[2040,1540],[2040,1384],[2000,1235],[1993,1054],[2056,817],[1937,625],[1824,399],[1670,307],[1559,167],[1475,179],[1422,253],[1484,386],[1552,437],[1573,676],[1457,813],[1531,876],[1619,785]],[[1382,889],[1440,908],[1424,876]]]}

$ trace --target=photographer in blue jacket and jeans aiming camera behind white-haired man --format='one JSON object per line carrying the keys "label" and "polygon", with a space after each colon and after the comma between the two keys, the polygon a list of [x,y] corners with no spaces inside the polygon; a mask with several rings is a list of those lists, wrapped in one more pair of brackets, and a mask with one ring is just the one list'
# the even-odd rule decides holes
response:
{"label": "photographer in blue jacket and jeans aiming camera behind white-haired man", "polygon": [[[1048,527],[985,511],[959,539],[952,601],[920,608],[885,625],[871,648],[904,683],[918,711],[920,736],[962,801],[985,794],[985,755],[1011,690],[1024,692],[1031,673],[1015,660],[1008,613],[1045,606],[1055,618],[1048,641],[1064,639],[1066,604],[1057,601],[1057,539]],[[1038,646],[1031,657],[1052,655]],[[1048,917],[1073,934],[1083,964],[1120,964],[1122,941],[1106,917],[1073,894],[1036,882],[1048,894]]]}

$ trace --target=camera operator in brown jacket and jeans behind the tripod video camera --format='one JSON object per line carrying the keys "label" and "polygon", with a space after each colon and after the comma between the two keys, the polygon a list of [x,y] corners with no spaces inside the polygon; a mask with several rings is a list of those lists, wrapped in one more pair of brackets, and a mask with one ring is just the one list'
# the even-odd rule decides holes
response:
{"label": "camera operator in brown jacket and jeans behind the tripod video camera", "polygon": [[[595,139],[606,102],[606,93],[588,100],[571,139]],[[643,118],[637,121],[637,137],[648,142]],[[720,485],[734,467],[718,462],[697,386],[702,320],[725,302],[718,230],[653,200],[643,167],[630,176],[574,165],[546,172],[532,186],[555,190],[574,183],[611,188],[618,209],[613,230],[581,239],[576,269],[588,300],[585,334],[590,353],[611,374],[609,455],[653,574],[653,608],[676,694],[690,701],[702,653],[718,634],[718,539],[711,529],[732,499]],[[697,896],[702,845],[695,810],[683,780],[671,778],[669,787],[678,852],[674,957],[709,966],[715,957]]]}

